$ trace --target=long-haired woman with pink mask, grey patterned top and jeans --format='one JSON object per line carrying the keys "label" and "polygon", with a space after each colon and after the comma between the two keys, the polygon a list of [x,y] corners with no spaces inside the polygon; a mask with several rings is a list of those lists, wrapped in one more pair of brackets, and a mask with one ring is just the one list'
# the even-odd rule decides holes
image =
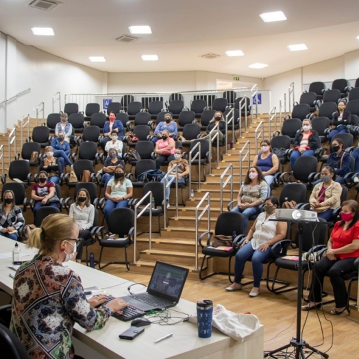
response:
{"label": "long-haired woman with pink mask, grey patterned top and jeans", "polygon": [[247,228],[249,216],[258,213],[258,208],[264,199],[268,197],[268,184],[264,181],[262,171],[258,166],[251,166],[245,176],[245,181],[240,187],[237,206],[232,208],[232,212],[242,213],[245,217],[243,232]]}

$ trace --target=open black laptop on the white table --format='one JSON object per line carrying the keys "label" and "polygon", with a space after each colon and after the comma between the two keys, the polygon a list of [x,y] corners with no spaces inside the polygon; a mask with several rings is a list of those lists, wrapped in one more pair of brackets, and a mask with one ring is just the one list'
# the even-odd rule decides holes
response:
{"label": "open black laptop on the white table", "polygon": [[149,312],[177,305],[180,300],[188,269],[164,262],[156,262],[146,293],[121,297],[132,306]]}

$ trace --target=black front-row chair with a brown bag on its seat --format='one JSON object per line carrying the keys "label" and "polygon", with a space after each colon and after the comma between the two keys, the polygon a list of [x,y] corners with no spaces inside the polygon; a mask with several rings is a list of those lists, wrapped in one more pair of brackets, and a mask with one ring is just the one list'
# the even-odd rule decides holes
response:
{"label": "black front-row chair with a brown bag on its seat", "polygon": [[[204,280],[212,275],[216,274],[227,274],[228,279],[231,283],[233,280],[231,278],[231,261],[232,258],[236,255],[238,248],[236,246],[236,241],[240,238],[240,234],[243,233],[243,224],[244,224],[244,217],[242,213],[237,212],[222,212],[219,214],[218,219],[216,221],[216,227],[214,228],[213,232],[203,232],[201,236],[198,238],[198,244],[201,246],[202,254],[204,254],[201,268],[199,269],[199,278]],[[232,236],[233,232],[236,232],[236,238],[234,238],[234,244],[232,245],[232,249],[229,251],[221,251],[212,247],[212,236],[223,235],[223,236]],[[202,240],[206,240],[206,245],[202,244]],[[214,272],[202,277],[203,272],[203,265],[207,259],[208,260],[213,257],[221,257],[221,258],[228,258],[228,273],[222,272]],[[208,267],[208,265],[207,265]]]}

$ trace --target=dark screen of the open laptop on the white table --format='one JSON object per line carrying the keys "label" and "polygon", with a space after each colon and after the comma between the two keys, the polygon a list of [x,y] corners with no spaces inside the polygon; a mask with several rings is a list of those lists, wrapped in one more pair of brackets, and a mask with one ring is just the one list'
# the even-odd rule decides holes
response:
{"label": "dark screen of the open laptop on the white table", "polygon": [[178,303],[188,275],[188,269],[156,262],[147,292]]}

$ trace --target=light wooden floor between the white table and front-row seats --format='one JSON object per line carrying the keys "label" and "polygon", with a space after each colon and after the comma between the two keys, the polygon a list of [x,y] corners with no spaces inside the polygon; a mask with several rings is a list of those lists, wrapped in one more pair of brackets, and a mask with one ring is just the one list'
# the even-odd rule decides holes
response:
{"label": "light wooden floor between the white table and front-row seats", "polygon": [[[129,273],[125,266],[113,264],[106,269],[107,273],[123,277],[132,282],[148,284],[149,275]],[[249,297],[251,286],[229,293],[224,287],[228,285],[227,276],[214,275],[203,281],[187,280],[182,298],[189,301],[211,299],[214,304],[222,304],[233,312],[251,312],[264,325],[264,350],[269,351],[289,343],[296,334],[297,291],[274,295],[269,293],[265,284],[261,284],[261,294],[256,298]],[[303,338],[311,346],[327,351],[330,358],[359,358],[359,345],[356,333],[359,323],[351,321],[347,313],[340,316],[329,314],[333,306],[324,306],[323,311],[302,312],[301,327],[304,327]],[[190,313],[188,313],[190,314]],[[308,318],[307,318],[308,315]],[[307,320],[306,320],[307,319]],[[321,333],[323,326],[323,336]],[[311,358],[320,358],[313,355]],[[255,358],[253,358],[255,359]]]}

